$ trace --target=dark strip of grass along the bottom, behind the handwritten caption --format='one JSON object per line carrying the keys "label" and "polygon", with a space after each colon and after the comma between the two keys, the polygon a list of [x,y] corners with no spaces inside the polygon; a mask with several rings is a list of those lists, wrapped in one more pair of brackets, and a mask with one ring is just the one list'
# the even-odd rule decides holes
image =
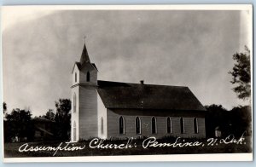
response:
{"label": "dark strip of grass along the bottom, behind the handwritten caption", "polygon": [[[173,143],[176,139],[161,139],[157,140],[159,143]],[[198,140],[187,139],[184,142],[195,142]],[[106,155],[150,155],[150,154],[192,154],[192,153],[252,153],[251,140],[249,137],[245,138],[243,143],[220,143],[220,140],[213,143],[211,141],[201,140],[201,146],[190,147],[147,147],[143,148],[143,140],[132,141],[130,148],[114,149],[114,148],[92,148],[89,147],[90,141],[79,141],[75,143],[76,147],[84,147],[82,150],[77,151],[38,151],[38,152],[19,152],[21,145],[25,143],[5,143],[4,155],[5,158],[19,158],[19,157],[70,157],[70,156],[106,156]],[[211,143],[210,143],[211,142]],[[40,141],[40,142],[27,142],[29,147],[58,147],[61,141]],[[126,144],[127,141],[104,141],[103,144]],[[136,144],[135,144],[136,143]],[[93,143],[96,146],[95,143]],[[63,147],[65,146],[62,145]],[[72,146],[72,145],[70,145]],[[29,148],[27,147],[27,149]],[[55,153],[55,155],[54,155]]]}

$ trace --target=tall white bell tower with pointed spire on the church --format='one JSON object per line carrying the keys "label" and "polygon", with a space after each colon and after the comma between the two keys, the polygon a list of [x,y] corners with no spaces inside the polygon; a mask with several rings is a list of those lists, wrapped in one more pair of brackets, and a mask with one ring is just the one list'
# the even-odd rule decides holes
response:
{"label": "tall white bell tower with pointed spire on the church", "polygon": [[80,61],[74,63],[72,71],[72,141],[97,137],[97,72],[84,43]]}

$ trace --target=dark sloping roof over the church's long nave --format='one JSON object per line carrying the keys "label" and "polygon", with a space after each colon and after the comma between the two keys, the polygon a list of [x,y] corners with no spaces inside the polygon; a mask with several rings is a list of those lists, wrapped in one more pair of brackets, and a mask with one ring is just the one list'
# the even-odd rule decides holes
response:
{"label": "dark sloping roof over the church's long nave", "polygon": [[98,81],[97,91],[111,109],[206,111],[188,87]]}

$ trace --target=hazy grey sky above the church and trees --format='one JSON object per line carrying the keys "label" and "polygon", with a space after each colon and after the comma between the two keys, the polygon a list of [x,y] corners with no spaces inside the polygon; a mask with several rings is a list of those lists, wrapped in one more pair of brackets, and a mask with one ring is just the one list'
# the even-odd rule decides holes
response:
{"label": "hazy grey sky above the church and trees", "polygon": [[71,98],[86,36],[98,79],[188,86],[203,105],[230,109],[232,55],[250,46],[238,10],[3,10],[3,101],[33,116]]}

